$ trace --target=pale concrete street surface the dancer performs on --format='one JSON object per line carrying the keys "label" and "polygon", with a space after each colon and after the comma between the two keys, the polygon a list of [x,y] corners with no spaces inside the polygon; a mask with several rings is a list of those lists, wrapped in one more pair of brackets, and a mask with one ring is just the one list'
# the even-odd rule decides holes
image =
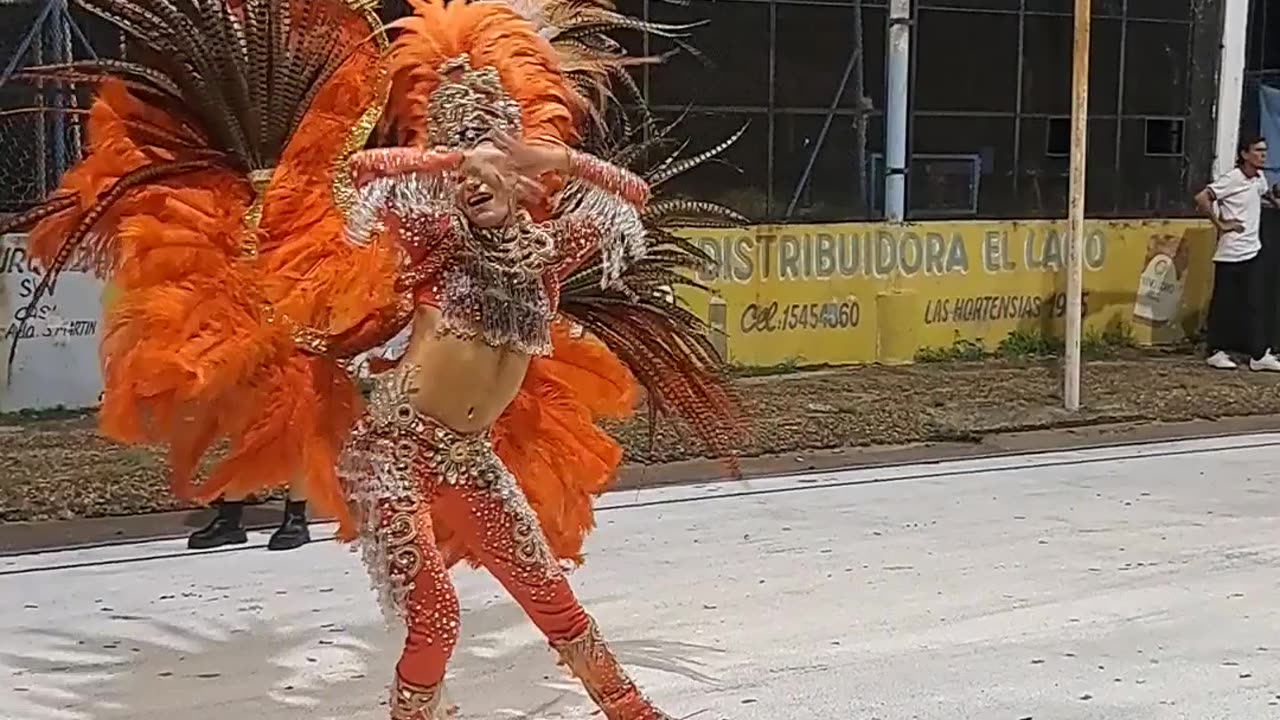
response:
{"label": "pale concrete street surface the dancer performs on", "polygon": [[[677,717],[1280,717],[1280,434],[605,498],[573,580]],[[5,720],[381,720],[356,556],[265,537],[0,559]],[[590,708],[457,574],[467,719]]]}

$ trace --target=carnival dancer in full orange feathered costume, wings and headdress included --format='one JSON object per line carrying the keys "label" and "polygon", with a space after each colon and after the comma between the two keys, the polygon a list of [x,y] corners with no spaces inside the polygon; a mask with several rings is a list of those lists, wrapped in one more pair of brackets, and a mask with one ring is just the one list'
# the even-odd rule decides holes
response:
{"label": "carnival dancer in full orange feathered costume, wings and headdress included", "polygon": [[[358,529],[408,624],[396,720],[442,710],[461,560],[507,584],[611,719],[663,717],[557,564],[581,560],[621,459],[595,421],[630,414],[636,384],[712,455],[740,430],[705,327],[663,292],[705,256],[662,224],[731,214],[646,204],[636,176],[568,150],[600,135],[604,81],[644,61],[603,33],[645,26],[603,1],[416,4],[387,64],[404,147],[352,160],[387,87],[367,8],[188,1],[86,0],[154,51],[31,73],[108,78],[86,160],[19,222],[37,223],[42,291],[82,247],[119,291],[104,432],[165,446],[191,497],[302,475],[339,537]],[[701,159],[667,159],[650,186]],[[356,423],[346,359],[406,325]]]}

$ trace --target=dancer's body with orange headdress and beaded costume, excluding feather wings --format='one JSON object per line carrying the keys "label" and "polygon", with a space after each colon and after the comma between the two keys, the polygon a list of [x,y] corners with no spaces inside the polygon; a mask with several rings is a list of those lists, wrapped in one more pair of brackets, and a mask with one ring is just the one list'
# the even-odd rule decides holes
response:
{"label": "dancer's body with orange headdress and beaded costume, excluding feather wings", "polygon": [[[598,286],[625,291],[625,270],[649,252],[649,187],[571,149],[591,99],[525,15],[497,3],[412,4],[415,15],[394,23],[401,33],[388,59],[389,118],[410,128],[410,145],[352,159],[357,201],[348,215],[353,242],[401,252],[401,295],[330,347],[349,355],[412,327],[404,354],[375,380],[342,466],[365,560],[385,605],[408,625],[392,717],[443,710],[460,618],[435,542],[442,524],[521,605],[607,717],[667,717],[575,598],[544,537],[545,518],[521,492],[522,473],[513,475],[493,447],[534,360],[554,360],[557,337],[566,342],[556,323],[561,283],[598,259]],[[640,368],[659,366],[663,350],[640,352]],[[732,427],[732,406],[714,382],[675,384],[705,411],[695,418],[701,427]],[[562,461],[591,459],[572,437],[554,450]]]}

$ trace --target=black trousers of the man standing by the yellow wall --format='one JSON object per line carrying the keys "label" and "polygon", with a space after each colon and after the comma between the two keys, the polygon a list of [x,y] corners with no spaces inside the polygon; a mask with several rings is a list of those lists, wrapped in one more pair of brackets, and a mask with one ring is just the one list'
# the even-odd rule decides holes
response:
{"label": "black trousers of the man standing by the yellow wall", "polygon": [[1213,263],[1213,297],[1208,302],[1208,351],[1236,352],[1257,360],[1268,350],[1266,287],[1258,258]]}

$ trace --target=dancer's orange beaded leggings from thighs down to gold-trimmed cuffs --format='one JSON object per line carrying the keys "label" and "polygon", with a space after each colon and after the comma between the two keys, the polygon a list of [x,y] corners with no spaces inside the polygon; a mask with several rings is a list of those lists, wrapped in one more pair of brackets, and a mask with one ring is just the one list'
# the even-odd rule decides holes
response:
{"label": "dancer's orange beaded leggings from thighs down to gold-trimmed cuffs", "polygon": [[[458,518],[463,542],[548,641],[570,641],[588,630],[590,618],[573,596],[538,518],[515,483],[490,488],[440,483],[430,503]],[[408,588],[404,600],[408,634],[397,673],[410,683],[431,687],[444,679],[458,641],[458,597],[435,547],[430,507],[426,503],[397,507],[388,502],[381,512],[383,532],[392,538],[393,573],[399,562]]]}

